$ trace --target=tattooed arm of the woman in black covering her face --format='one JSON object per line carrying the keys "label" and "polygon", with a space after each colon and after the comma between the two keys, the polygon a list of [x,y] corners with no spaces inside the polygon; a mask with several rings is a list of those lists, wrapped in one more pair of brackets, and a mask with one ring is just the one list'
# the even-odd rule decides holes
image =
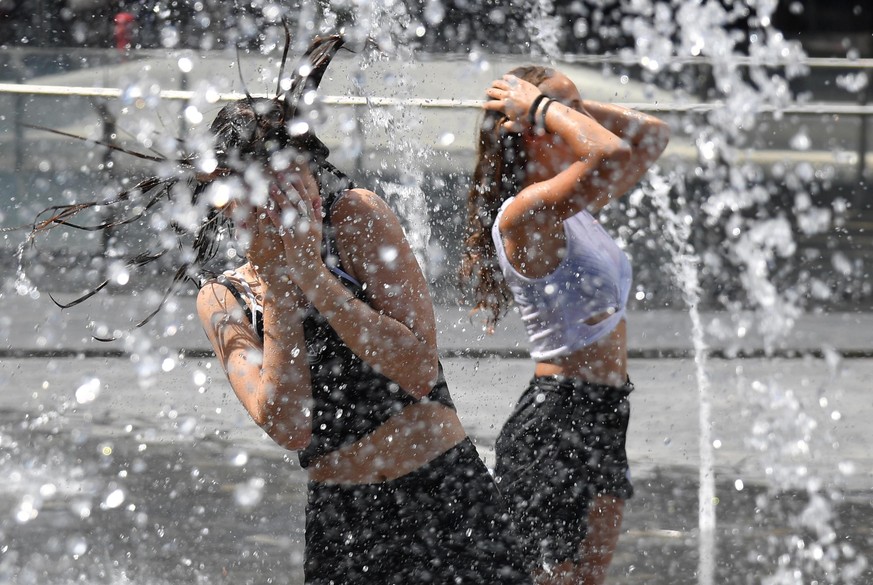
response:
{"label": "tattooed arm of the woman in black covering her face", "polygon": [[299,292],[267,292],[261,342],[225,286],[207,284],[197,296],[200,321],[237,398],[273,441],[290,450],[306,447],[312,434],[300,301]]}

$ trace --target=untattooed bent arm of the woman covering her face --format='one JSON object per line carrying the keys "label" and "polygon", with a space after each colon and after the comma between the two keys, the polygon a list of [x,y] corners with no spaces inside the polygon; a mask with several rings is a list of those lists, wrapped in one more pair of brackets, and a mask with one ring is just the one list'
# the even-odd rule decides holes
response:
{"label": "untattooed bent arm of the woman covering her face", "polygon": [[375,193],[353,189],[331,218],[343,267],[364,285],[367,302],[325,266],[315,246],[320,230],[283,235],[290,278],[358,357],[409,394],[425,396],[439,372],[433,305],[397,217]]}

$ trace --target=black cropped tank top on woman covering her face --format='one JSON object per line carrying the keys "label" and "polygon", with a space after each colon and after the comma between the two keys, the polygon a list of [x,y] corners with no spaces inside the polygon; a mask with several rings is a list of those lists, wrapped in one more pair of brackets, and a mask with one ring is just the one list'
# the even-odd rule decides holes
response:
{"label": "black cropped tank top on woman covering her face", "polygon": [[[368,302],[364,288],[343,269],[336,253],[334,229],[330,225],[330,209],[339,195],[325,201],[322,257],[331,272],[352,291],[356,298]],[[217,282],[227,286],[240,301],[249,321],[263,339],[263,319],[254,298],[248,301],[225,276]],[[254,307],[254,310],[252,309]],[[312,440],[298,452],[301,467],[308,467],[316,458],[354,443],[376,430],[391,416],[418,400],[399,384],[373,370],[340,339],[315,308],[309,307],[303,319],[309,375],[312,382]],[[455,405],[439,364],[439,377],[422,401],[433,401],[451,409]]]}

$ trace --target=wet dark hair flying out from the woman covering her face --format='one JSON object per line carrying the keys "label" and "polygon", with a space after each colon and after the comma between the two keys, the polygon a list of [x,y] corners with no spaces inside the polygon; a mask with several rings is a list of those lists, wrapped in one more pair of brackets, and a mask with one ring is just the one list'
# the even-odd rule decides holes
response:
{"label": "wet dark hair flying out from the woman covering her face", "polygon": [[[286,27],[287,33],[287,27]],[[286,35],[286,49],[282,66],[287,56],[290,44],[290,34]],[[169,227],[176,233],[178,248],[181,253],[181,263],[175,268],[169,285],[157,307],[135,327],[148,323],[163,307],[170,295],[174,294],[185,282],[192,282],[200,287],[214,276],[207,265],[217,255],[220,242],[232,228],[232,221],[220,208],[203,201],[208,186],[215,180],[242,175],[251,165],[267,166],[271,158],[280,152],[288,152],[300,162],[306,162],[315,176],[319,189],[324,196],[353,187],[351,181],[337,170],[328,157],[327,146],[310,130],[292,135],[289,128],[291,122],[300,113],[301,98],[306,91],[314,91],[335,55],[342,46],[343,39],[339,35],[316,37],[302,58],[292,77],[291,87],[284,95],[275,98],[246,97],[225,105],[215,116],[210,125],[214,137],[213,152],[217,165],[212,172],[202,172],[196,169],[194,157],[183,157],[176,160],[178,173],[167,177],[149,177],[137,183],[131,189],[119,193],[109,200],[88,201],[69,205],[49,207],[39,214],[31,227],[25,246],[35,247],[36,237],[53,228],[65,227],[84,231],[102,231],[109,233],[114,228],[139,222],[161,206],[171,204],[179,197],[189,198],[190,204],[196,208],[205,209],[204,217],[195,229],[184,226],[168,218]],[[281,79],[281,73],[280,73]],[[69,134],[42,128],[56,134]],[[79,138],[73,136],[74,138]],[[80,138],[81,139],[81,138]],[[94,142],[94,141],[91,141]],[[126,154],[156,162],[167,162],[165,158],[144,155],[128,151],[111,144],[103,144]],[[109,210],[109,219],[100,219],[92,223],[81,221],[79,214],[87,210]],[[141,268],[163,258],[170,247],[163,245],[157,250],[146,250],[123,259],[129,268]],[[19,269],[24,272],[25,254],[21,254]],[[73,301],[60,303],[54,297],[52,301],[62,309],[73,307],[89,299],[109,284],[106,279],[91,288],[85,294]],[[110,341],[107,338],[97,338]]]}

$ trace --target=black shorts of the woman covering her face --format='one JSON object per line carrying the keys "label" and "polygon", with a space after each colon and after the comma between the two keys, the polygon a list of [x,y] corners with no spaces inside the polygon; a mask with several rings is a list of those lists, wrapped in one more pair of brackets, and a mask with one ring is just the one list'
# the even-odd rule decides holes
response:
{"label": "black shorts of the woman covering her face", "polygon": [[469,439],[393,481],[309,482],[309,585],[530,584],[520,552]]}

